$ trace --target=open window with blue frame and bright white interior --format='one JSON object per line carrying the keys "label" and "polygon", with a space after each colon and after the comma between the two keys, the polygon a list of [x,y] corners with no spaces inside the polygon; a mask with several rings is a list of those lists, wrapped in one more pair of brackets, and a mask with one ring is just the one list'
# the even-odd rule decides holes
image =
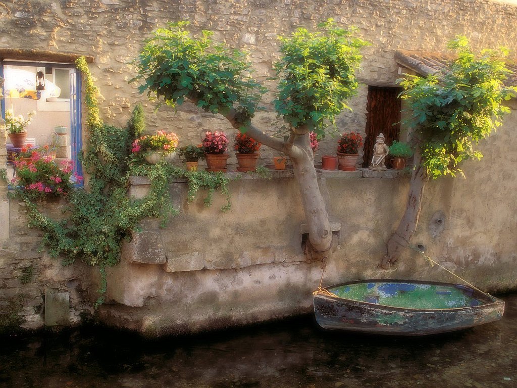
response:
{"label": "open window with blue frame and bright white interior", "polygon": [[[74,175],[82,175],[78,153],[82,148],[81,77],[73,64],[26,61],[0,62],[5,79],[2,116],[32,121],[25,127],[23,144],[49,146],[57,160],[71,159]],[[7,141],[8,173],[14,173],[13,159],[20,141]]]}

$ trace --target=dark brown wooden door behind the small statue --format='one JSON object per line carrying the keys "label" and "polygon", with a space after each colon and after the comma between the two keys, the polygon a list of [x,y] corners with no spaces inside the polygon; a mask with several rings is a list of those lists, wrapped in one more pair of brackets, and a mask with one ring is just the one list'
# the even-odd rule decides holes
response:
{"label": "dark brown wooden door behind the small statue", "polygon": [[368,86],[366,139],[364,140],[363,167],[370,165],[375,138],[383,133],[386,144],[399,140],[401,103],[399,87]]}

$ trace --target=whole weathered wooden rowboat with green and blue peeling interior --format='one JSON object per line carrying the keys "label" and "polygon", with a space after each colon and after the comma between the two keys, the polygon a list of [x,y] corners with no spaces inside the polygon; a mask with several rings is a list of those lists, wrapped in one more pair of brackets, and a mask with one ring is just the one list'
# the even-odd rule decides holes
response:
{"label": "whole weathered wooden rowboat with green and blue peeling interior", "polygon": [[314,292],[324,329],[383,335],[462,330],[503,316],[505,302],[467,286],[417,280],[359,280]]}

